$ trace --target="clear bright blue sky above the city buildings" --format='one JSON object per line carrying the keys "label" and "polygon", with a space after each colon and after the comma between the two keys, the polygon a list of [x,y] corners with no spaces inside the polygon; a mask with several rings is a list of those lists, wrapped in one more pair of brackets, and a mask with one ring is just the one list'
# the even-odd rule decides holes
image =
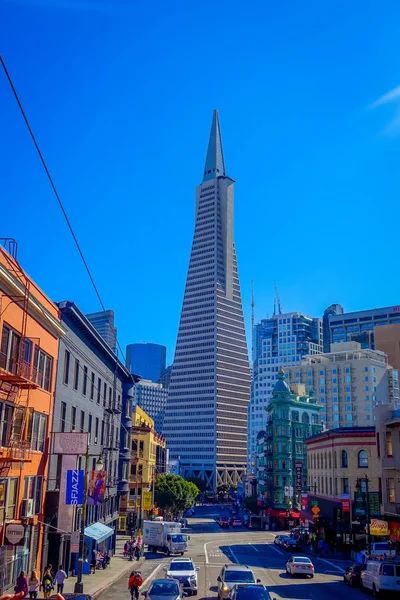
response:
{"label": "clear bright blue sky above the city buildings", "polygon": [[[400,304],[400,4],[0,0],[1,52],[121,344],[172,360],[212,110],[236,180],[250,334],[270,313]],[[0,235],[99,309],[0,73]]]}

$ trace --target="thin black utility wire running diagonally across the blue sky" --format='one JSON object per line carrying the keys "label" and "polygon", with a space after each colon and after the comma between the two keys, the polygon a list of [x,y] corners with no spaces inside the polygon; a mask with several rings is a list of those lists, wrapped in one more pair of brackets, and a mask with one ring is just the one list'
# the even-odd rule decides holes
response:
{"label": "thin black utility wire running diagonally across the blue sky", "polygon": [[[10,75],[10,73],[8,72],[8,69],[7,69],[7,67],[6,67],[6,64],[5,64],[5,62],[4,62],[4,59],[3,59],[3,57],[2,57],[2,55],[1,55],[1,54],[0,54],[0,63],[1,63],[1,65],[2,65],[2,67],[3,67],[3,70],[4,70],[4,73],[5,73],[6,77],[7,77],[8,83],[10,84],[11,90],[12,90],[12,92],[13,92],[13,94],[14,94],[14,98],[15,98],[15,100],[16,100],[16,102],[17,102],[17,104],[18,104],[19,110],[20,110],[20,112],[21,112],[21,114],[22,114],[22,117],[23,117],[23,119],[24,119],[24,121],[25,121],[25,125],[26,125],[26,127],[27,127],[27,129],[28,129],[28,131],[29,131],[29,134],[30,134],[31,138],[32,138],[33,144],[34,144],[34,146],[35,146],[35,148],[36,148],[36,151],[37,151],[37,153],[38,153],[38,155],[39,155],[39,158],[40,158],[40,161],[41,161],[41,163],[42,163],[42,166],[43,166],[43,168],[44,168],[44,170],[45,170],[45,172],[46,172],[47,179],[48,179],[48,180],[49,180],[49,182],[50,182],[51,188],[52,188],[52,190],[53,190],[53,192],[54,192],[54,195],[55,195],[55,197],[56,197],[56,199],[57,199],[58,205],[59,205],[59,207],[61,208],[61,212],[62,212],[62,213],[63,213],[63,215],[64,215],[65,221],[66,221],[66,223],[67,223],[67,225],[68,225],[68,229],[69,229],[69,231],[70,231],[70,233],[71,233],[71,235],[72,235],[72,238],[73,238],[73,240],[74,240],[74,242],[75,242],[75,245],[76,245],[76,247],[77,247],[77,249],[78,249],[79,255],[80,255],[80,257],[81,257],[81,259],[82,259],[82,262],[83,262],[83,264],[84,264],[84,266],[85,266],[86,272],[87,272],[87,274],[88,274],[88,276],[89,276],[89,279],[90,279],[90,281],[91,281],[91,283],[92,283],[93,289],[94,289],[94,291],[95,291],[95,293],[96,293],[96,296],[97,296],[97,298],[98,298],[98,300],[99,300],[99,302],[100,302],[100,306],[101,306],[101,308],[103,309],[104,313],[106,313],[106,309],[105,309],[105,306],[104,306],[103,300],[101,299],[100,292],[99,292],[99,290],[98,290],[98,288],[97,288],[97,286],[96,286],[96,283],[95,283],[95,281],[94,281],[94,279],[93,279],[92,273],[91,273],[91,271],[90,271],[90,269],[89,269],[89,265],[88,265],[88,263],[86,262],[85,256],[84,256],[84,254],[83,254],[83,252],[82,252],[82,249],[81,249],[81,247],[80,247],[80,245],[79,245],[78,239],[77,239],[77,237],[76,237],[76,235],[75,235],[74,229],[73,229],[73,227],[72,227],[72,225],[71,225],[71,221],[70,221],[70,220],[69,220],[69,218],[68,218],[67,212],[66,212],[66,210],[65,210],[65,208],[64,208],[64,205],[63,205],[63,203],[62,203],[62,201],[61,201],[61,198],[60,198],[60,196],[59,196],[59,193],[58,193],[58,191],[57,191],[56,185],[55,185],[55,183],[54,183],[54,181],[53,181],[53,178],[52,178],[52,176],[51,176],[51,174],[50,174],[50,171],[49,171],[49,169],[48,169],[48,167],[47,167],[46,161],[45,161],[45,159],[44,159],[44,157],[43,157],[43,154],[42,154],[42,152],[41,152],[41,150],[40,150],[40,147],[39,147],[39,144],[38,144],[38,142],[37,142],[37,140],[36,140],[35,134],[34,134],[34,133],[33,133],[33,131],[32,131],[32,127],[30,126],[30,123],[29,123],[29,121],[28,121],[28,117],[26,116],[26,113],[25,113],[25,110],[24,110],[24,108],[23,108],[23,106],[22,106],[21,100],[19,99],[19,96],[18,96],[17,90],[15,89],[15,86],[14,86],[14,84],[13,84],[13,81],[12,81],[12,79],[11,79],[11,75]],[[110,321],[110,320],[109,320],[109,324],[111,325],[111,321]],[[120,345],[120,343],[119,343],[118,339],[116,339],[116,342],[117,342],[118,349],[119,349],[119,351],[121,352],[121,356],[122,356],[122,358],[123,358],[123,360],[124,360],[124,362],[125,362],[125,354],[124,354],[124,352],[122,351],[122,348],[121,348],[121,345]],[[132,374],[131,374],[131,377],[132,377]],[[133,381],[133,383],[135,383],[135,382],[134,382],[134,378],[133,378],[133,377],[132,377],[132,381]]]}

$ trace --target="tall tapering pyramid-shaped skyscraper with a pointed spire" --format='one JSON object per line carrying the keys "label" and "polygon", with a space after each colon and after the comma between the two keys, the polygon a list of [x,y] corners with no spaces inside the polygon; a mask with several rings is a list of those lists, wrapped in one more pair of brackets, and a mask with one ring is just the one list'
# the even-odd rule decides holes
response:
{"label": "tall tapering pyramid-shaped skyscraper with a pointed spire", "polygon": [[214,111],[163,429],[181,474],[209,488],[237,483],[246,468],[250,370],[233,189]]}

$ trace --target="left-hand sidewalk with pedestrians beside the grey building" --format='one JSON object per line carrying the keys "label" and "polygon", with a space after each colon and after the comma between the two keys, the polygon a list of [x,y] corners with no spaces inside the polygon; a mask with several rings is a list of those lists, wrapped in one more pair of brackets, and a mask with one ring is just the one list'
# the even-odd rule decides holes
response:
{"label": "left-hand sidewalk with pedestrians beside the grey building", "polygon": [[[93,597],[98,596],[106,588],[117,581],[117,579],[120,579],[123,575],[128,577],[128,572],[135,568],[137,569],[143,563],[143,559],[136,562],[130,561],[123,556],[124,544],[129,539],[129,536],[124,535],[117,537],[115,554],[112,557],[110,566],[107,567],[107,569],[97,569],[94,575],[82,576],[84,594],[90,594]],[[65,580],[65,593],[73,593],[76,579],[76,576],[74,576],[68,577],[68,579]]]}

